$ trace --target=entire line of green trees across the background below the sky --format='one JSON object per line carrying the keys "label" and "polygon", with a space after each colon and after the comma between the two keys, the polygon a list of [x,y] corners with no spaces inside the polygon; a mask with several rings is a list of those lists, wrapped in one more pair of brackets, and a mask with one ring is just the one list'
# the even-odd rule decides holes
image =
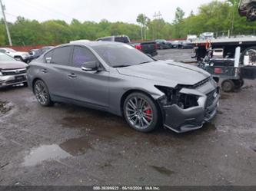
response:
{"label": "entire line of green trees across the background below the sky", "polygon": [[[239,0],[212,1],[201,5],[198,13],[185,12],[177,8],[174,21],[167,22],[162,18],[150,20],[146,15],[138,15],[139,25],[125,22],[78,21],[73,19],[70,24],[60,20],[38,22],[18,17],[15,23],[8,23],[14,45],[62,44],[78,39],[95,40],[110,35],[128,35],[131,40],[157,38],[185,38],[187,35],[200,35],[211,31],[215,35],[255,35],[256,22],[248,22],[238,15]],[[0,45],[8,45],[5,25],[0,20]]]}

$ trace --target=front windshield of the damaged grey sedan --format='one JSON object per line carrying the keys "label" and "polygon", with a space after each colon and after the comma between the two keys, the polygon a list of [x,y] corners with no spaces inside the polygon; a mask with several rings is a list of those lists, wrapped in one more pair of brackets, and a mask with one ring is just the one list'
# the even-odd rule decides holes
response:
{"label": "front windshield of the damaged grey sedan", "polygon": [[108,44],[92,47],[111,67],[126,67],[154,61],[128,44]]}

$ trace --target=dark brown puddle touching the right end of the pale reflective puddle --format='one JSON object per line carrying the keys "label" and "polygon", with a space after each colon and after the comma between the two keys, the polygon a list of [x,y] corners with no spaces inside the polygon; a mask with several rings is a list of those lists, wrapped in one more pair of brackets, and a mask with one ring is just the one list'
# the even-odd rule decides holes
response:
{"label": "dark brown puddle touching the right end of the pale reflective puddle", "polygon": [[61,143],[59,147],[72,156],[79,156],[85,154],[87,150],[91,149],[91,144],[88,143],[88,140],[86,140],[85,137],[81,137],[78,139],[67,140],[64,143]]}

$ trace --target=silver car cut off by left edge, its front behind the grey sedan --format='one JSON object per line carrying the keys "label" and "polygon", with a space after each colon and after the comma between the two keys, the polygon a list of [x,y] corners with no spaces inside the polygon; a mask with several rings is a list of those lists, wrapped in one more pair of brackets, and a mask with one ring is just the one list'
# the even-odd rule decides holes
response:
{"label": "silver car cut off by left edge, its front behind the grey sedan", "polygon": [[28,64],[22,61],[16,61],[8,54],[0,52],[0,87],[7,87],[16,84],[27,86]]}

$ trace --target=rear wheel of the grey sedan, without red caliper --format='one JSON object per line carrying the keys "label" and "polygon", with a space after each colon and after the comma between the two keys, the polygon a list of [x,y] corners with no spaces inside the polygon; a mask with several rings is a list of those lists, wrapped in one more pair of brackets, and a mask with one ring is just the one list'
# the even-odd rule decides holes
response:
{"label": "rear wheel of the grey sedan, without red caliper", "polygon": [[38,103],[41,104],[42,106],[49,107],[54,104],[51,100],[48,87],[44,81],[41,81],[41,80],[35,81],[35,84],[33,86],[33,91],[36,99],[38,100]]}

